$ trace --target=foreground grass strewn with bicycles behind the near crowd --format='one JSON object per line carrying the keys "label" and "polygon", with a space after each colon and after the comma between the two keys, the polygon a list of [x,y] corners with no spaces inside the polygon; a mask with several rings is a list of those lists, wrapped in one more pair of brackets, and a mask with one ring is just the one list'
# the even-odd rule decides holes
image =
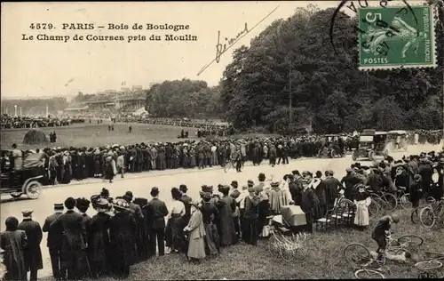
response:
{"label": "foreground grass strewn with bicycles behind the near crowd", "polygon": [[[417,251],[420,257],[425,250],[444,253],[444,228],[424,229],[414,225],[409,219],[409,211],[400,212],[401,221],[394,229],[395,237],[415,234],[424,238],[424,245]],[[257,247],[234,245],[223,249],[218,258],[190,264],[183,255],[166,255],[131,267],[131,280],[197,280],[197,279],[313,279],[313,278],[354,278],[353,268],[346,263],[343,251],[346,245],[358,242],[376,251],[377,245],[370,238],[375,221],[367,230],[330,230],[327,233],[314,232],[305,241],[308,254],[304,261],[285,262],[267,252],[267,241],[260,241]],[[417,278],[421,273],[413,265],[414,261],[399,264],[387,261],[386,278]],[[387,270],[389,269],[389,270]],[[443,269],[432,271],[443,276]],[[390,272],[388,272],[390,271]],[[43,278],[42,280],[52,280]],[[114,280],[102,278],[102,281]]]}

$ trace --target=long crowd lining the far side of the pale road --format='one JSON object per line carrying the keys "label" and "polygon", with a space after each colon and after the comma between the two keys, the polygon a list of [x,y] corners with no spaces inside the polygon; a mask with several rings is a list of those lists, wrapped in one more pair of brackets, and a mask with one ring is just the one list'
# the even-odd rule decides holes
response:
{"label": "long crowd lining the far side of the pale road", "polygon": [[[332,146],[339,151],[351,151],[357,147],[358,140],[359,136],[353,134],[343,135],[334,141],[329,141],[323,135],[313,134],[241,140],[141,142],[126,147],[118,144],[96,148],[53,147],[22,151],[21,155],[26,157],[28,153],[42,153],[48,183],[58,184],[93,177],[112,181],[117,174],[124,177],[125,173],[154,170],[223,167],[235,157],[242,160],[242,166],[247,161],[260,165],[265,160],[270,165],[285,165],[289,163],[289,158],[316,157],[319,151]],[[2,171],[7,166],[12,166],[8,165],[9,162],[8,155],[3,154]]]}

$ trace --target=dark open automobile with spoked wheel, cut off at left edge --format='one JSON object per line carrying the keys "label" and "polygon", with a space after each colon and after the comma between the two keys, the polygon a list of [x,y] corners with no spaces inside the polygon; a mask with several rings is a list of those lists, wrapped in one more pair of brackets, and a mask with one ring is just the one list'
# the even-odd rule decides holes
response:
{"label": "dark open automobile with spoked wheel, cut off at left edge", "polygon": [[0,193],[9,193],[14,198],[23,194],[31,199],[38,198],[42,187],[47,184],[48,180],[42,161],[44,154],[30,153],[23,157],[23,169],[21,171],[12,171],[7,154],[7,151],[2,151]]}

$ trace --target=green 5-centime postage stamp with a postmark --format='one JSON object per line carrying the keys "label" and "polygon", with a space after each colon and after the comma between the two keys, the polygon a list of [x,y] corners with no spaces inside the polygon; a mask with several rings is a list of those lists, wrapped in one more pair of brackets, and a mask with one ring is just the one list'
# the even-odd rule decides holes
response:
{"label": "green 5-centime postage stamp with a postmark", "polygon": [[437,66],[431,6],[361,8],[358,20],[360,69]]}

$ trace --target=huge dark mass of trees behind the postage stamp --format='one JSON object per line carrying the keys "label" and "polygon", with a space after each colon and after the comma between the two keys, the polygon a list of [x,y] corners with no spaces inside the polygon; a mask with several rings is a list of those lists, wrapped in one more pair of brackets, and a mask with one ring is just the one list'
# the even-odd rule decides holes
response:
{"label": "huge dark mass of trees behind the postage stamp", "polygon": [[315,132],[375,128],[440,129],[443,124],[443,10],[436,24],[438,68],[358,70],[356,19],[334,8],[313,4],[297,8],[287,20],[275,20],[250,47],[234,51],[220,81],[220,105],[238,129],[289,125]]}

